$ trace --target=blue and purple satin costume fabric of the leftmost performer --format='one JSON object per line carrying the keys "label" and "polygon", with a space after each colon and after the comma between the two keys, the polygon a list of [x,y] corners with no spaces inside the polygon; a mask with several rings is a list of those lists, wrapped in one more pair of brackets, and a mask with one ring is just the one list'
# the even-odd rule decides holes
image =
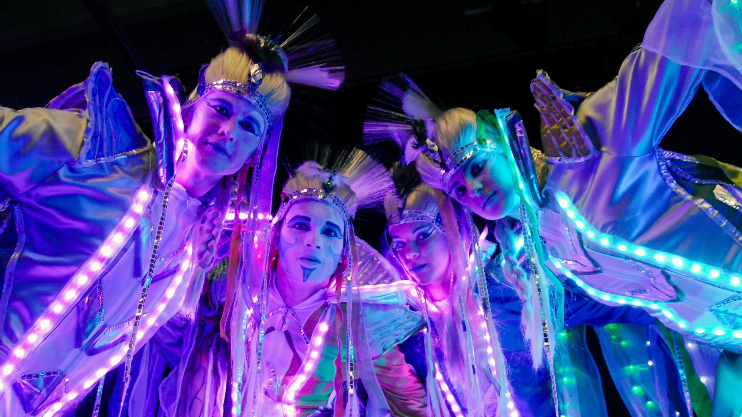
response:
{"label": "blue and purple satin costume fabric of the leftmost performer", "polygon": [[[18,235],[16,242],[6,242],[14,255],[5,266],[0,358],[108,237],[137,190],[153,179],[154,146],[111,83],[108,66],[98,63],[90,78],[52,103],[82,108],[0,108],[0,193]],[[187,258],[183,249],[201,206],[180,185],[172,189],[145,314],[164,298],[170,278]],[[30,378],[39,372],[58,375],[47,378],[37,393],[20,384],[5,389],[1,415],[42,410],[55,399],[50,393],[83,390],[83,382],[95,378],[117,352],[112,348],[131,333],[161,209],[157,192],[133,236],[112,255],[114,263],[102,280],[43,336],[18,372]],[[177,312],[177,299],[165,306],[160,322]]]}

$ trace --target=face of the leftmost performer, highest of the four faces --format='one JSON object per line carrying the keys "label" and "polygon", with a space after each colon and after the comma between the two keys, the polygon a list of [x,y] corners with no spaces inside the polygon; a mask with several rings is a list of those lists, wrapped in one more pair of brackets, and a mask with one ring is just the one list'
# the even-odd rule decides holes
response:
{"label": "face of the leftmost performer, highest of the four faces", "polygon": [[188,121],[188,163],[206,176],[234,174],[245,165],[266,131],[263,112],[226,91],[209,91],[193,105]]}

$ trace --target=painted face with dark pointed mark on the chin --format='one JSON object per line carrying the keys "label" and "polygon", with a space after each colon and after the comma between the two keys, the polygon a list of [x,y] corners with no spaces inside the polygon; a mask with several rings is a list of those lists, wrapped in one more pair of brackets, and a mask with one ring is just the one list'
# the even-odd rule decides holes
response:
{"label": "painted face with dark pointed mark on the chin", "polygon": [[296,283],[329,280],[344,247],[343,215],[329,204],[301,200],[286,211],[278,237],[278,267]]}

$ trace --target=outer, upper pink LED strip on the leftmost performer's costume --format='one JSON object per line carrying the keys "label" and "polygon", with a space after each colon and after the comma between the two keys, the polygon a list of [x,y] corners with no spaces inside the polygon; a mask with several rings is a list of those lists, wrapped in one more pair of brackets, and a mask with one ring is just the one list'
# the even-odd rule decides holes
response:
{"label": "outer, upper pink LED strip on the leftmost performer's costume", "polygon": [[93,283],[105,271],[111,259],[119,253],[128,238],[134,232],[134,226],[142,219],[144,208],[148,206],[151,198],[151,190],[148,186],[142,186],[137,191],[134,203],[128,209],[119,224],[114,227],[113,232],[103,241],[98,250],[89,257],[82,267],[70,278],[68,283],[59,292],[54,301],[36,319],[36,323],[26,332],[20,341],[13,347],[13,352],[7,356],[0,369],[0,394],[7,388],[16,372],[23,366],[28,355],[33,353],[45,340],[51,329],[62,321],[76,305],[81,295],[88,292]]}

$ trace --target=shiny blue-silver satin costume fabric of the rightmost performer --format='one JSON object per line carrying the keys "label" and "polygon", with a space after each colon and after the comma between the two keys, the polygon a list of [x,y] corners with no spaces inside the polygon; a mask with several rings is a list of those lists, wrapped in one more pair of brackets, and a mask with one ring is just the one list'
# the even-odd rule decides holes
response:
{"label": "shiny blue-silver satin costume fabric of the rightmost performer", "polygon": [[[597,152],[563,152],[561,157],[548,159],[549,174],[543,188],[548,204],[539,217],[541,237],[550,254],[564,260],[565,266],[589,286],[613,295],[671,303],[669,306],[686,326],[663,317],[660,309],[646,310],[682,334],[677,335],[678,343],[698,347],[689,349],[688,354],[695,368],[704,373],[703,381],[711,394],[714,371],[710,364],[718,358],[718,349],[741,351],[738,341],[729,338],[731,330],[740,326],[739,319],[712,312],[712,308],[726,304],[726,308],[738,309],[735,300],[740,292],[716,286],[700,275],[667,269],[652,259],[637,259],[592,243],[568,219],[556,194],[565,192],[585,220],[600,232],[730,272],[741,271],[741,171],[711,158],[690,157],[659,147],[700,85],[729,122],[735,124],[738,119],[740,106],[735,103],[741,96],[737,87],[740,73],[718,45],[714,19],[708,1],[666,1],[647,30],[644,47],[626,58],[616,79],[586,98],[568,92],[557,94],[558,98],[553,96],[557,105],[540,108],[542,114],[551,117],[549,120],[579,123],[585,132],[582,139]],[[535,82],[556,88],[542,74]],[[573,106],[574,116],[570,116]],[[548,130],[545,133],[546,141]],[[723,138],[698,138],[700,143],[703,140]],[[559,275],[556,269],[554,272]],[[696,326],[725,331],[699,335],[693,331]],[[642,355],[653,358],[654,364],[660,357],[652,356],[657,350],[651,352],[649,346],[657,341],[668,349],[675,343],[665,341],[656,329],[646,330],[646,334],[628,327],[599,332],[611,369],[633,365],[635,359],[609,350],[611,344],[606,338],[611,332],[623,335],[626,343],[646,338],[649,344]],[[663,378],[672,377],[668,375]],[[663,398],[662,394],[663,384],[670,384],[670,379],[659,385],[657,378],[654,381],[647,386],[647,395],[659,395],[656,404],[663,410],[677,410],[677,398]],[[631,395],[625,398],[631,404]],[[689,405],[690,401],[686,402]],[[686,414],[688,409],[679,412]],[[636,410],[637,416],[647,415]]]}

